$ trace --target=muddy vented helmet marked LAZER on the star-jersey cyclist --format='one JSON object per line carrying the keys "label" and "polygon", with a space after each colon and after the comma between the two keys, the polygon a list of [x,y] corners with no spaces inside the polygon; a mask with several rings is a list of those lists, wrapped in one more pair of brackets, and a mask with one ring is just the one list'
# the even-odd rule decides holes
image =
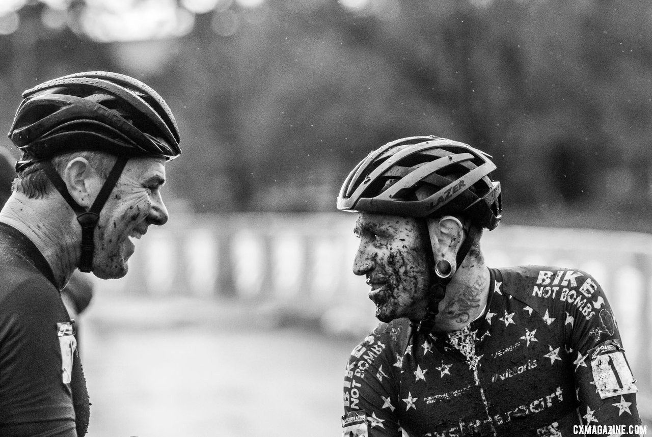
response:
{"label": "muddy vented helmet marked LAZER on the star-jersey cyclist", "polygon": [[489,155],[464,143],[436,136],[401,138],[353,169],[337,207],[405,217],[461,214],[492,230],[502,209],[500,183],[489,177],[495,169]]}

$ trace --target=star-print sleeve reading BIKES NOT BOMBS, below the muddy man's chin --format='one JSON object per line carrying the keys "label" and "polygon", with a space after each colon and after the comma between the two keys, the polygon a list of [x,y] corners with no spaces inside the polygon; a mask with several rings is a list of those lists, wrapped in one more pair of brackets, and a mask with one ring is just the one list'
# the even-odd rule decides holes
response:
{"label": "star-print sleeve reading BIKES NOT BOMBS, below the muddy man's chin", "polygon": [[376,333],[378,329],[353,349],[346,365],[343,437],[402,435],[395,414],[398,406],[395,372],[400,372],[395,366],[396,352],[391,340]]}

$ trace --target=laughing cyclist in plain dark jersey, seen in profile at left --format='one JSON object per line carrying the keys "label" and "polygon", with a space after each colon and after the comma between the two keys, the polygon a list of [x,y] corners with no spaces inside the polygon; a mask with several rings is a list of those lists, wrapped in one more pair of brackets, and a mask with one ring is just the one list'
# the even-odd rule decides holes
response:
{"label": "laughing cyclist in plain dark jersey, seen in profile at left", "polygon": [[25,91],[9,138],[22,155],[0,211],[0,435],[83,436],[89,398],[59,292],[75,269],[123,277],[132,239],[168,220],[179,132],[145,83],[83,72]]}

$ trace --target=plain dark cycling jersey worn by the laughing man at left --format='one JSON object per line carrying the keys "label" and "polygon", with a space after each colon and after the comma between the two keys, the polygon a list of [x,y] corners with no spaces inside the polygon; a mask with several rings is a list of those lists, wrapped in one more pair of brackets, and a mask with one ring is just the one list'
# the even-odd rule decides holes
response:
{"label": "plain dark cycling jersey worn by the laughing man at left", "polygon": [[76,415],[85,432],[85,380],[52,269],[4,223],[0,278],[0,435],[75,437]]}

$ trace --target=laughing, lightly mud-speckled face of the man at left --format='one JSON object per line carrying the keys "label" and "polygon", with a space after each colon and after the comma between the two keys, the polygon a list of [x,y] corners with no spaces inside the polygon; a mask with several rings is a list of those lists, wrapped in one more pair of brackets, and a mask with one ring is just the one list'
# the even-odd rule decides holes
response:
{"label": "laughing, lightly mud-speckled face of the man at left", "polygon": [[164,158],[131,158],[102,208],[95,229],[93,273],[102,279],[121,278],[134,253],[132,239],[140,239],[150,224],[168,221],[161,198],[165,182]]}

